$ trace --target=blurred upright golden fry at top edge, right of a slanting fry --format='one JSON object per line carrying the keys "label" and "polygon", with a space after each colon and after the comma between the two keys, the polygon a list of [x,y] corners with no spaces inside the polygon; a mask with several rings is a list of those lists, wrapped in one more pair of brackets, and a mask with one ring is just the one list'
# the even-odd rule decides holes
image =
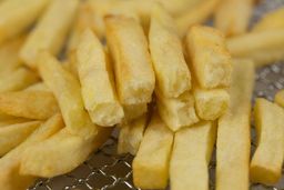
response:
{"label": "blurred upright golden fry at top edge, right of a slanting fry", "polygon": [[214,26],[225,36],[245,33],[253,13],[254,0],[221,0]]}

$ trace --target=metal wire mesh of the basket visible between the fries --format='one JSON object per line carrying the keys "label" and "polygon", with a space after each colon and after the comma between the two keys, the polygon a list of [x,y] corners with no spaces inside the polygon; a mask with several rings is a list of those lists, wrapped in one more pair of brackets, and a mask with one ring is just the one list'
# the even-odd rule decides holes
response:
{"label": "metal wire mesh of the basket visible between the fries", "polygon": [[[284,0],[263,0],[254,11],[252,23],[263,13],[284,6]],[[273,100],[276,91],[284,88],[284,62],[257,69],[254,90],[255,97]],[[114,131],[108,142],[80,167],[68,174],[51,179],[39,179],[28,190],[139,190],[132,183],[130,154],[116,154],[118,131]],[[254,131],[252,129],[252,137]],[[252,138],[254,139],[254,138]],[[255,149],[252,142],[252,152]],[[210,164],[210,189],[214,189],[215,156]],[[284,169],[283,169],[284,173]],[[181,181],[182,182],[182,181]],[[170,189],[170,188],[168,188]],[[284,190],[284,176],[274,187],[252,184],[252,190]]]}

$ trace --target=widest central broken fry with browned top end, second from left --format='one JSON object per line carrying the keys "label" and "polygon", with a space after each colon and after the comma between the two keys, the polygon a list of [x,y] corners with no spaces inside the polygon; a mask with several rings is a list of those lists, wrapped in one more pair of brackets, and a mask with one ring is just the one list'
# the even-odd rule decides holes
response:
{"label": "widest central broken fry with browned top end, second from left", "polygon": [[120,102],[150,102],[155,77],[142,27],[134,19],[122,16],[105,18],[105,26]]}

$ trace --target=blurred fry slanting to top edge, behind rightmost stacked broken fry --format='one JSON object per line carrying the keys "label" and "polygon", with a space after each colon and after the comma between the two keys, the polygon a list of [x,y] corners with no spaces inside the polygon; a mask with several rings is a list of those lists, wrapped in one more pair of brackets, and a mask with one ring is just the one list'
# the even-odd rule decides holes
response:
{"label": "blurred fry slanting to top edge, behind rightmost stacked broken fry", "polygon": [[175,18],[178,30],[184,37],[190,27],[205,22],[216,10],[221,0],[203,0],[193,9],[185,11]]}

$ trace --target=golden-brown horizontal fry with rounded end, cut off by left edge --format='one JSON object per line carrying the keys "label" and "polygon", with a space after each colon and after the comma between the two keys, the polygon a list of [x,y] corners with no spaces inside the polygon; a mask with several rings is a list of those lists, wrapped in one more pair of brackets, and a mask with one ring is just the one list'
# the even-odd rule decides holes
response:
{"label": "golden-brown horizontal fry with rounded end, cut off by left edge", "polygon": [[44,120],[59,112],[59,107],[51,92],[2,92],[0,93],[0,111],[14,117]]}

